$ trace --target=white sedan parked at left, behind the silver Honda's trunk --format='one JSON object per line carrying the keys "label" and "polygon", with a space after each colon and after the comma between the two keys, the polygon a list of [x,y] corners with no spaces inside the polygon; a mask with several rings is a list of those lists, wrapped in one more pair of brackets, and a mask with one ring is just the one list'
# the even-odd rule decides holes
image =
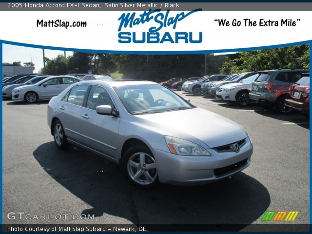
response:
{"label": "white sedan parked at left, behind the silver Honda's trunk", "polygon": [[73,83],[83,81],[72,76],[54,76],[45,78],[36,84],[23,85],[12,91],[12,100],[35,102],[38,99],[51,99],[58,96]]}

